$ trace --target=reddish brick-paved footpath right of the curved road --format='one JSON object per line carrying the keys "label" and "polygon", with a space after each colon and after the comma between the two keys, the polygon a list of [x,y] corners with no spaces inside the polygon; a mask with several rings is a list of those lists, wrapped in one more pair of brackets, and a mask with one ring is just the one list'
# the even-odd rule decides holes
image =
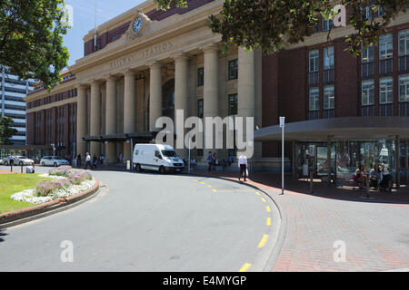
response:
{"label": "reddish brick-paved footpath right of the curved road", "polygon": [[[205,171],[195,173],[206,174]],[[237,180],[237,174],[217,176]],[[243,180],[243,179],[242,179]],[[385,271],[409,268],[409,189],[371,192],[254,173],[248,183],[264,189],[284,208],[286,232],[273,271]],[[344,241],[346,261],[334,262],[334,242]],[[406,270],[407,271],[407,270]]]}

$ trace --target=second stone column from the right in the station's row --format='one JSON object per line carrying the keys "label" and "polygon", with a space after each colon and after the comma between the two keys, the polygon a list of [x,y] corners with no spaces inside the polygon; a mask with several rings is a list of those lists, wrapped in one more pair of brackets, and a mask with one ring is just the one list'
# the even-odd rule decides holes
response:
{"label": "second stone column from the right in the station's row", "polygon": [[[204,86],[204,123],[205,119],[208,117],[218,116],[218,98],[219,98],[219,48],[216,45],[210,45],[204,48],[205,53],[205,86]],[[215,129],[205,128],[205,138],[204,138],[204,158],[207,157],[208,152],[215,150],[215,142],[212,144],[211,148],[207,148],[206,140],[215,136]]]}

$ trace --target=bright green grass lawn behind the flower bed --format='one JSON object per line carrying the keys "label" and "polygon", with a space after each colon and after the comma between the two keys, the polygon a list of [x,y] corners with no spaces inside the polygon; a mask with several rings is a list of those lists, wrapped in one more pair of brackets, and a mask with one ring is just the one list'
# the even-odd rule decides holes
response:
{"label": "bright green grass lawn behind the flower bed", "polygon": [[0,174],[0,214],[35,205],[10,198],[25,189],[34,189],[37,183],[45,178],[35,174]]}

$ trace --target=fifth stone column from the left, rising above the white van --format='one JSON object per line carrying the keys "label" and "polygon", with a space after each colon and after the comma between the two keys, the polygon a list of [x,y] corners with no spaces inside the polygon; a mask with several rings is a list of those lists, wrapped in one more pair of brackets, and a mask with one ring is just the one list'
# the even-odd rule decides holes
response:
{"label": "fifth stone column from the left, rising above the white van", "polygon": [[149,130],[159,131],[155,128],[157,119],[162,117],[162,65],[150,65],[150,102],[149,102]]}

